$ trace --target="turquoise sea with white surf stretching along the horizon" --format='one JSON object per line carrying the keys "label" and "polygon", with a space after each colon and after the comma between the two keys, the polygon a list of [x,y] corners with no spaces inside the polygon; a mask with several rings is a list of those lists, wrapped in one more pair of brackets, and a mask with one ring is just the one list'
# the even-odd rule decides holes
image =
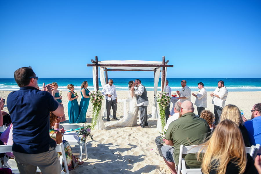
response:
{"label": "turquoise sea with white surf stretching along the horizon", "polygon": [[[180,81],[181,78],[167,78],[169,81],[169,86],[172,90],[179,90],[181,88]],[[88,89],[93,89],[93,79],[92,78],[73,78],[73,79],[62,79],[62,78],[52,78],[52,79],[38,79],[39,87],[44,83],[57,82],[59,85],[59,90],[68,90],[66,86],[68,84],[73,84],[75,90],[79,90],[81,83],[83,81],[88,81]],[[128,81],[135,80],[131,78],[114,78],[113,82],[117,90],[127,90]],[[153,78],[141,78],[142,84],[146,87],[148,91],[153,90],[154,79]],[[203,82],[204,87],[207,91],[213,91],[218,84],[219,80],[223,80],[226,88],[229,91],[261,91],[261,78],[186,78],[187,86],[191,88],[192,91],[198,90],[197,83]],[[102,90],[101,84],[99,82],[99,89]],[[14,79],[0,79],[0,90],[19,90]],[[160,81],[159,87],[160,90]]]}

